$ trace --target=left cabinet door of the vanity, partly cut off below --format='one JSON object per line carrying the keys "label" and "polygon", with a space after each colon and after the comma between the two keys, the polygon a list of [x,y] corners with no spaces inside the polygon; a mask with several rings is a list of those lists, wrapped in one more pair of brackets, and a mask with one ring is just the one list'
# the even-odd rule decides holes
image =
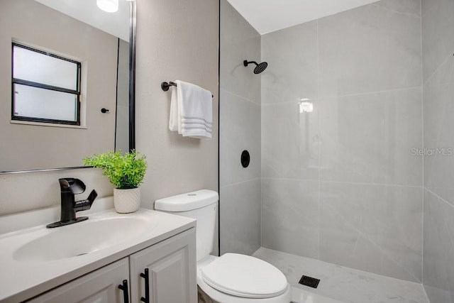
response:
{"label": "left cabinet door of the vanity, partly cut off below", "polygon": [[128,277],[128,258],[123,258],[40,294],[29,302],[126,303],[123,301],[123,290],[120,290],[118,285],[121,285],[122,281],[127,280]]}

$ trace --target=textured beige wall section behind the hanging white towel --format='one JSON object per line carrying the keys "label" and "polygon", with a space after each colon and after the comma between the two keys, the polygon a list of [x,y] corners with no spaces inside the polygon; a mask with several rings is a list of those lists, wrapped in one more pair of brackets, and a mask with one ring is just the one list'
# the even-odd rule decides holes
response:
{"label": "textured beige wall section behind the hanging white towel", "polygon": [[[142,205],[196,189],[218,190],[218,1],[138,0],[136,147],[148,157]],[[180,79],[214,94],[213,138],[170,132],[170,91]]]}

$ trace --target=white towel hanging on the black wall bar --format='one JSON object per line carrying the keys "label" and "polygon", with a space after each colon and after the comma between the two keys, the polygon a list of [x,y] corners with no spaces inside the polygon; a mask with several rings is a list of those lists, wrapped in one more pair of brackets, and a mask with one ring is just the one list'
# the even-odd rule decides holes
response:
{"label": "white towel hanging on the black wall bar", "polygon": [[194,84],[175,81],[170,103],[170,131],[184,137],[211,138],[213,104],[211,92]]}

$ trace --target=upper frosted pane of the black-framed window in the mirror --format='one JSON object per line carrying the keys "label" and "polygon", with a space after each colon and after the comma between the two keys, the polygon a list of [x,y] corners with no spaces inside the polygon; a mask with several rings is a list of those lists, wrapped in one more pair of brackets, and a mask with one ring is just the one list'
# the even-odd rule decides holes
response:
{"label": "upper frosted pane of the black-framed window in the mirror", "polygon": [[77,90],[77,63],[13,45],[13,78]]}

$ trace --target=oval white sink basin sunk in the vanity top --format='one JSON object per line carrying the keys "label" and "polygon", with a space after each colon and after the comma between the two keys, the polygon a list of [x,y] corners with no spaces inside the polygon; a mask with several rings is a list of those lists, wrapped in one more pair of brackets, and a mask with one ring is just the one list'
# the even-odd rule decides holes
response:
{"label": "oval white sink basin sunk in the vanity top", "polygon": [[87,255],[140,236],[156,224],[140,217],[125,216],[89,219],[52,228],[44,236],[17,248],[13,259],[43,262]]}

